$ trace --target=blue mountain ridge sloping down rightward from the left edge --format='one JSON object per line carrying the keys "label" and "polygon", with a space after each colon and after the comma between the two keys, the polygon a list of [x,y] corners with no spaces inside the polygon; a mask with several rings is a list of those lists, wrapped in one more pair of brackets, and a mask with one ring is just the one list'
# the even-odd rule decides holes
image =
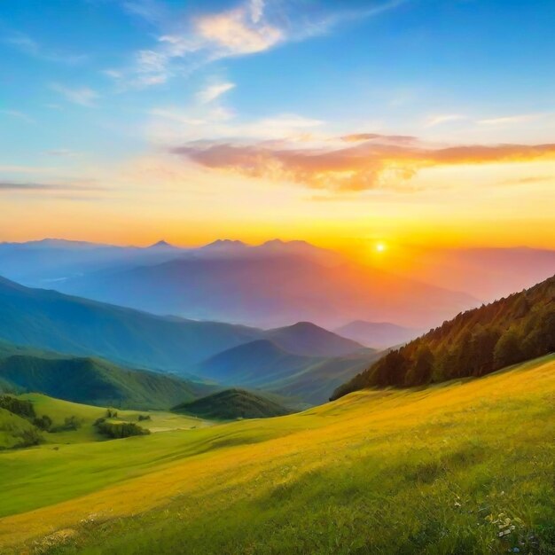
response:
{"label": "blue mountain ridge sloping down rightward from the left edge", "polygon": [[132,368],[180,371],[261,330],[156,317],[0,278],[0,338],[76,356],[101,356]]}

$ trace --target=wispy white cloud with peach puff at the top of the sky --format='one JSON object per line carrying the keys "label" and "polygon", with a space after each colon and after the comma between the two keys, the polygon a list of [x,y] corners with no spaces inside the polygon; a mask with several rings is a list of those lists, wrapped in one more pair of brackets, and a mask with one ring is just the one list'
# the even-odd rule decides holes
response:
{"label": "wispy white cloud with peach puff at the top of the sky", "polygon": [[[137,51],[132,64],[110,68],[121,89],[160,85],[176,74],[191,72],[217,59],[253,55],[280,44],[322,35],[341,21],[371,17],[403,4],[405,0],[378,1],[370,9],[303,12],[288,3],[244,0],[220,12],[191,15],[168,13],[168,6],[154,0],[129,0],[124,8],[159,31],[156,43]],[[181,23],[176,23],[181,21]]]}

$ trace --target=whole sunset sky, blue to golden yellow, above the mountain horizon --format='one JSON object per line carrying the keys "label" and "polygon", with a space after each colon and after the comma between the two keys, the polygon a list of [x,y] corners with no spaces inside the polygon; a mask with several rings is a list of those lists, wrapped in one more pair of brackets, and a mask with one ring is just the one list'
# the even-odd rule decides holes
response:
{"label": "whole sunset sky, blue to golden yellow, above the mountain horizon", "polygon": [[4,0],[0,240],[555,248],[555,3]]}

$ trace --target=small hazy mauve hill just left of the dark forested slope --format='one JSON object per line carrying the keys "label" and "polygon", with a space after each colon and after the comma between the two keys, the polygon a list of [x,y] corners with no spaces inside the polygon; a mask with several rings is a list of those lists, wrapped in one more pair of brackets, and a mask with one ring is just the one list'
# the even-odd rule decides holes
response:
{"label": "small hazy mauve hill just left of the dark forested slope", "polygon": [[358,341],[366,347],[380,349],[406,343],[421,333],[414,328],[406,328],[389,322],[364,322],[363,320],[342,325],[334,332],[342,337]]}

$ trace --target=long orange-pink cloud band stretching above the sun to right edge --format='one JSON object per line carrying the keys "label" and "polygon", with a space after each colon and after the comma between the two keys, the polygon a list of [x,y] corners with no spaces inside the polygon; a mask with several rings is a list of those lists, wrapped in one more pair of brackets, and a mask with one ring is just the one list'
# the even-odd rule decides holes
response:
{"label": "long orange-pink cloud band stretching above the sun to right edge", "polygon": [[[460,145],[429,147],[419,142],[368,140],[346,148],[298,148],[294,144],[250,145],[197,141],[171,152],[212,169],[289,181],[330,191],[380,187],[407,189],[422,168],[520,162],[555,157],[555,145]],[[395,137],[395,136],[391,136]],[[284,144],[286,146],[284,146]]]}

